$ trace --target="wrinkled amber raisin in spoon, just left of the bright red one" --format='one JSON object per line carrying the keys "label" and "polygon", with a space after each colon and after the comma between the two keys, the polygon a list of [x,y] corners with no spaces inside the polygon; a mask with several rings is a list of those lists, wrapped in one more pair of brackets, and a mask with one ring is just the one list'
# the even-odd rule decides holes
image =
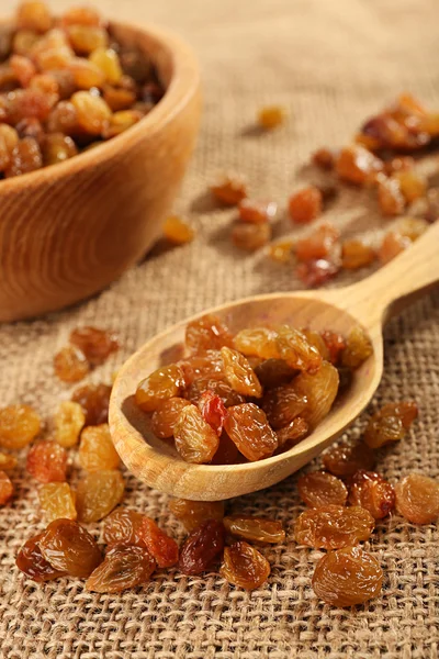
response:
{"label": "wrinkled amber raisin in spoon, just left of the bright red one", "polygon": [[173,435],[180,456],[195,465],[210,462],[219,445],[217,434],[195,405],[188,405],[180,412]]}

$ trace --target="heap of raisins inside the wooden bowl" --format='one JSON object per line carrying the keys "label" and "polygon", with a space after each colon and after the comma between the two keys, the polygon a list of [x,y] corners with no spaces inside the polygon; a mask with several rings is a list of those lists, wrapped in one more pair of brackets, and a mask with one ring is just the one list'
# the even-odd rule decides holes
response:
{"label": "heap of raisins inside the wooden bowl", "polygon": [[148,55],[93,9],[24,0],[1,27],[0,177],[63,163],[139,122],[164,88]]}

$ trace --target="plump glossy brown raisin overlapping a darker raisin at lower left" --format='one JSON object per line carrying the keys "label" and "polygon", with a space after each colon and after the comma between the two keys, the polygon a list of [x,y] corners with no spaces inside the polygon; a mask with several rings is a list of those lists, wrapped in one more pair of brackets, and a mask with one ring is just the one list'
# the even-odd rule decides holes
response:
{"label": "plump glossy brown raisin overlapping a darker raisin at lower left", "polygon": [[38,540],[43,558],[53,568],[85,579],[102,561],[94,538],[72,520],[55,520]]}

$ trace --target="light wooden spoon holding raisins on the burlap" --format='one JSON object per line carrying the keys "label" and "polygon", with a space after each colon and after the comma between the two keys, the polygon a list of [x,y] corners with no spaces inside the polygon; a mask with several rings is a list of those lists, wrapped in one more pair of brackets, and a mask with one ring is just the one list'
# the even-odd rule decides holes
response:
{"label": "light wooden spoon holding raisins on the burlap", "polygon": [[257,295],[204,312],[218,315],[233,332],[290,323],[347,335],[360,323],[372,340],[373,356],[356,371],[350,389],[316,429],[290,450],[258,462],[191,465],[150,432],[146,414],[133,400],[136,387],[153,370],[179,358],[187,323],[204,314],[166,330],[125,362],[114,383],[110,427],[122,460],[151,488],[192,500],[229,499],[279,482],[322,453],[364,410],[383,372],[383,323],[402,302],[438,281],[439,221],[409,249],[359,283],[338,290]]}

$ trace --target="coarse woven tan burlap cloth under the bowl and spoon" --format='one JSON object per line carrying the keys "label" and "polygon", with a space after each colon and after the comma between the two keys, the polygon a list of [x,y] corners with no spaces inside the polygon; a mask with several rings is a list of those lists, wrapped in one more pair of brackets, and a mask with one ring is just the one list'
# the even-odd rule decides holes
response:
{"label": "coarse woven tan burlap cloth under the bowl and spoon", "polygon": [[[2,10],[14,2],[2,0]],[[56,8],[67,2],[56,2]],[[0,327],[0,405],[34,404],[49,414],[69,390],[54,379],[52,358],[69,330],[91,323],[119,332],[122,351],[93,373],[109,379],[154,333],[205,306],[299,284],[291,268],[263,255],[243,256],[227,237],[229,212],[205,197],[217,169],[248,174],[259,194],[284,200],[308,172],[309,150],[345,142],[354,126],[402,89],[439,105],[436,0],[101,0],[114,16],[168,24],[198,49],[205,111],[195,157],[177,210],[198,230],[192,245],[156,249],[100,297],[32,323]],[[258,135],[261,103],[291,110],[289,124]],[[0,210],[1,212],[1,210]],[[345,192],[330,212],[346,231],[382,225],[367,194]],[[123,221],[123,219],[121,219]],[[280,226],[282,230],[282,225]],[[339,280],[337,286],[342,283]],[[425,298],[385,333],[386,369],[374,405],[416,399],[420,418],[409,436],[383,454],[392,479],[419,470],[438,477],[439,295]],[[360,420],[349,431],[357,436]],[[126,504],[155,517],[178,539],[168,498],[127,476]],[[296,478],[245,496],[233,510],[283,520],[285,546],[264,550],[269,583],[247,593],[212,573],[158,572],[121,595],[98,595],[80,581],[44,588],[23,579],[14,556],[42,527],[34,483],[15,478],[18,495],[0,512],[0,656],[8,659],[434,659],[438,656],[438,532],[398,516],[378,525],[370,543],[385,571],[381,597],[358,611],[337,611],[311,590],[320,554],[297,550],[291,523],[301,510]],[[95,529],[98,529],[97,525]],[[94,529],[93,529],[94,530]]]}

